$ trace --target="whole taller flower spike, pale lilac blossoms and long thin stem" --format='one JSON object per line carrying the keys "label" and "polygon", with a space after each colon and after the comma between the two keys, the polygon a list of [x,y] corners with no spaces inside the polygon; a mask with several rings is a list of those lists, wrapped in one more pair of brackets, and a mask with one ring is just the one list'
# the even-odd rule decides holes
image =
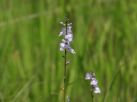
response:
{"label": "whole taller flower spike, pale lilac blossoms and long thin stem", "polygon": [[60,43],[60,51],[64,52],[64,86],[63,86],[63,91],[64,91],[64,96],[63,100],[66,102],[66,91],[67,91],[67,65],[70,63],[67,61],[67,54],[72,53],[75,54],[75,51],[73,48],[71,48],[70,43],[73,40],[73,35],[72,35],[72,23],[68,22],[68,19],[65,19],[65,22],[60,22],[63,25],[63,28],[59,34],[59,36],[63,36],[63,39]]}

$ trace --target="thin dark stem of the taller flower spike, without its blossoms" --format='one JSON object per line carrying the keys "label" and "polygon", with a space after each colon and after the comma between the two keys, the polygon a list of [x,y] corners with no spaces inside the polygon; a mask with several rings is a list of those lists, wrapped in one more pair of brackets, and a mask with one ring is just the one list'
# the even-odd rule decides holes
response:
{"label": "thin dark stem of the taller flower spike, without its blossoms", "polygon": [[[67,35],[67,19],[66,19],[66,35]],[[66,88],[67,88],[67,50],[64,53],[64,102],[66,102]]]}

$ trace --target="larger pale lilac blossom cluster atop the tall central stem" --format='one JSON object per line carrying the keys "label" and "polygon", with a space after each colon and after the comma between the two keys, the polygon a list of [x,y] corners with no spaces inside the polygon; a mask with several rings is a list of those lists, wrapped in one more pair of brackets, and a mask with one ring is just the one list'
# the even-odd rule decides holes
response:
{"label": "larger pale lilac blossom cluster atop the tall central stem", "polygon": [[60,24],[63,25],[63,28],[59,34],[59,36],[63,36],[62,42],[60,43],[60,51],[68,51],[72,54],[75,54],[75,51],[73,48],[71,48],[70,43],[73,40],[73,34],[72,34],[72,23],[63,23],[60,22]]}

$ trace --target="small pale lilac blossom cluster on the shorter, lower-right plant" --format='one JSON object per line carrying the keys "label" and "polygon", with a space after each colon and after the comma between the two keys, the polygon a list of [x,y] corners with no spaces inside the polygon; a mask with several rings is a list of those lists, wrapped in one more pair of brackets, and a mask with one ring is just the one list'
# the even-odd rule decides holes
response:
{"label": "small pale lilac blossom cluster on the shorter, lower-right plant", "polygon": [[98,87],[98,81],[95,78],[95,73],[86,73],[85,80],[90,80],[90,85],[94,93],[100,93],[100,88]]}

